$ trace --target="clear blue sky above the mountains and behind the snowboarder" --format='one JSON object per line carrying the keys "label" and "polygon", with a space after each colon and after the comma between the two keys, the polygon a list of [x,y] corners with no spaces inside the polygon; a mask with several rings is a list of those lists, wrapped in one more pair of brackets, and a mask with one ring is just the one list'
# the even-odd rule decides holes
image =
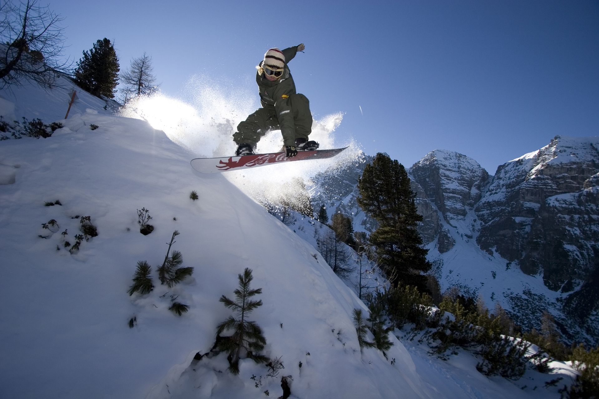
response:
{"label": "clear blue sky above the mountains and behind the snowboarder", "polygon": [[[290,68],[338,139],[410,167],[435,148],[497,166],[555,135],[599,135],[599,2],[50,1],[75,61],[114,41],[144,51],[167,95],[194,74],[256,93],[270,47],[303,42]],[[256,98],[257,98],[256,93]]]}

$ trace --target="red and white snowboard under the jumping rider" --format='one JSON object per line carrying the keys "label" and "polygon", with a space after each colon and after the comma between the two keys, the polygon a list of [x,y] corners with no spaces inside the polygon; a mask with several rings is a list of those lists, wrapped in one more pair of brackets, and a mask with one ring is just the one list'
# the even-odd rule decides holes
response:
{"label": "red and white snowboard under the jumping rider", "polygon": [[286,157],[285,152],[244,155],[239,157],[196,158],[191,160],[191,167],[200,173],[228,172],[229,170],[249,169],[250,167],[272,165],[273,163],[280,162],[331,158],[346,148],[347,147],[333,148],[331,150],[298,151],[297,156],[291,158]]}

